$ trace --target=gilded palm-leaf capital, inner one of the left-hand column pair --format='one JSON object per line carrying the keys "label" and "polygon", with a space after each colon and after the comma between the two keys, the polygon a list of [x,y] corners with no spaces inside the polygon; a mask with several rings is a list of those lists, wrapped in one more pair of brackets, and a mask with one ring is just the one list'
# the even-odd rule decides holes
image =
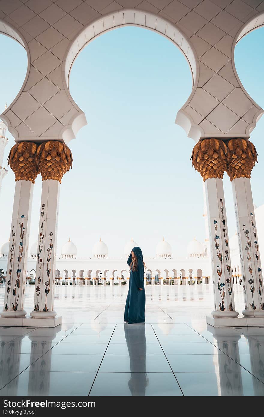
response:
{"label": "gilded palm-leaf capital, inner one of the left-hand column pair", "polygon": [[47,141],[38,146],[38,166],[44,180],[57,180],[73,165],[73,156],[70,148],[60,141]]}

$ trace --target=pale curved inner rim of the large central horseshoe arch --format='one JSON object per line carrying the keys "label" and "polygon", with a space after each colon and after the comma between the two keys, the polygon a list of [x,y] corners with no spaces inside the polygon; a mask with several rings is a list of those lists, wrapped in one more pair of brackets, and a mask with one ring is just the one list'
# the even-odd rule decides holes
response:
{"label": "pale curved inner rim of the large central horseshoe arch", "polygon": [[[193,78],[193,89],[186,103],[183,104],[182,108],[191,100],[199,79],[199,63],[196,51],[186,35],[171,21],[163,18],[162,16],[155,15],[151,12],[146,12],[139,9],[122,9],[116,10],[115,12],[108,13],[105,16],[101,16],[93,23],[86,25],[80,32],[75,36],[73,41],[70,43],[65,56],[63,58],[62,71],[63,71],[63,87],[69,100],[73,103],[76,108],[76,113],[73,118],[69,121],[68,126],[65,126],[60,132],[60,137],[63,138],[65,143],[68,143],[71,139],[75,138],[80,128],[87,124],[83,111],[73,100],[69,91],[69,75],[75,58],[78,56],[80,51],[92,40],[98,38],[103,33],[109,32],[110,30],[121,28],[125,26],[137,26],[145,29],[152,30],[164,36],[168,40],[176,45],[177,48],[185,55]],[[175,123],[180,124],[181,120]],[[193,123],[194,129],[198,129],[201,136],[202,129]]]}

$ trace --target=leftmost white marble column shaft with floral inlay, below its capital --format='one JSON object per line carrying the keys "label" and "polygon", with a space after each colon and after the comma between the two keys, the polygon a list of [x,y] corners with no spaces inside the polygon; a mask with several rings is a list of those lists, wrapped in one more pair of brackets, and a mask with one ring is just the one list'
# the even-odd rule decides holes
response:
{"label": "leftmost white marble column shaft with floral inlay, below its capital", "polygon": [[[17,318],[27,314],[24,300],[32,197],[33,183],[26,180],[16,181],[2,317]],[[1,319],[1,325],[5,324],[7,322],[4,323]]]}

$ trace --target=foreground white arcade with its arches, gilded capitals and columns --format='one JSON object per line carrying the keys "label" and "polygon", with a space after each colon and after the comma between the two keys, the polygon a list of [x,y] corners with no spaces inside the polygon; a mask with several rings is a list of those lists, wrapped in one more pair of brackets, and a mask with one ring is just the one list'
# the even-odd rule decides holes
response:
{"label": "foreground white arcade with its arches, gilded capitals and columns", "polygon": [[[234,48],[242,36],[263,25],[264,2],[240,1],[236,5],[236,1],[214,0],[208,8],[204,1],[149,0],[138,4],[133,0],[80,0],[73,9],[57,3],[56,7],[38,0],[0,3],[0,31],[18,40],[28,54],[23,87],[1,115],[16,142],[9,155],[16,185],[1,323],[23,325],[27,314],[28,236],[33,186],[39,173],[43,186],[35,300],[30,315],[33,322],[59,323],[53,303],[60,183],[72,166],[70,140],[86,124],[68,89],[70,69],[79,51],[101,33],[137,25],[175,43],[193,76],[191,95],[178,111],[176,123],[195,141],[192,163],[206,190],[214,287],[214,311],[207,322],[216,327],[234,326],[238,321],[244,326],[259,325],[259,320],[263,324],[264,285],[250,185],[257,153],[249,137],[264,111],[239,80]],[[239,238],[244,288],[241,319],[236,318],[239,312],[234,304],[224,172],[232,184]]]}

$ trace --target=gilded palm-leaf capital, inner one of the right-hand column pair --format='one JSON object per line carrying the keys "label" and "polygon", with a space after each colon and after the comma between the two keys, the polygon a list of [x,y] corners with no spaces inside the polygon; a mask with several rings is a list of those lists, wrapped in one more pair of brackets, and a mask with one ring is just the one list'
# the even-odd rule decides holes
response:
{"label": "gilded palm-leaf capital, inner one of the right-hand column pair", "polygon": [[192,165],[204,181],[208,178],[223,178],[227,168],[227,147],[221,139],[202,139],[194,146]]}

